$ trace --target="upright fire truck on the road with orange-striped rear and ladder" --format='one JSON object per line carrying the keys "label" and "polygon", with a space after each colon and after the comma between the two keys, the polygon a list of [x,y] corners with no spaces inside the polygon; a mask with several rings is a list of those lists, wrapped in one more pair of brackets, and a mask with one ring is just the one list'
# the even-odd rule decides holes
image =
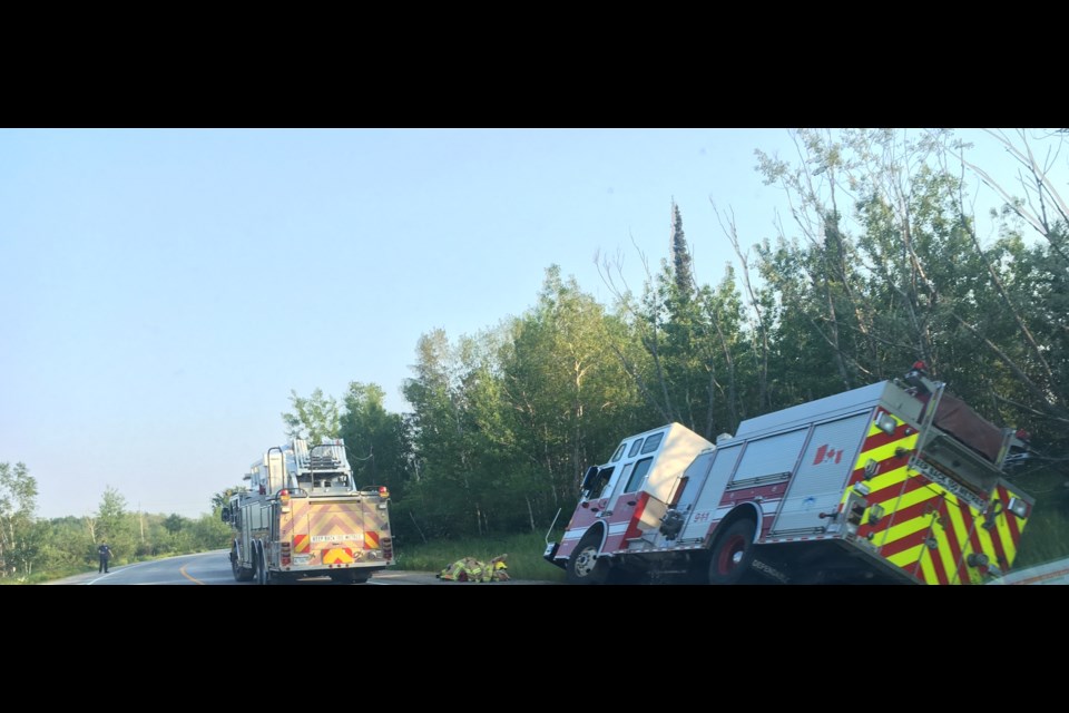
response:
{"label": "upright fire truck on the road with orange-striped rear and ladder", "polygon": [[223,508],[231,525],[237,582],[286,583],[324,577],[367,582],[393,563],[390,494],[356,488],[341,439],[273,447],[244,477],[246,489]]}

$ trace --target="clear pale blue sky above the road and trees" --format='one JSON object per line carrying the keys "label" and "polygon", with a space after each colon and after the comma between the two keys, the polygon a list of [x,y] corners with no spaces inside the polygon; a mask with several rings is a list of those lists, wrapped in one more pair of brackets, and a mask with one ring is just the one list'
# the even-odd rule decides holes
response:
{"label": "clear pale blue sky above the road and trees", "polygon": [[673,199],[716,283],[712,203],[744,245],[790,219],[757,148],[795,157],[785,129],[0,129],[0,462],[41,517],[107,487],[198,517],[291,390],[405,411],[420,335],[521,314],[550,265],[608,304],[619,255],[640,289]]}

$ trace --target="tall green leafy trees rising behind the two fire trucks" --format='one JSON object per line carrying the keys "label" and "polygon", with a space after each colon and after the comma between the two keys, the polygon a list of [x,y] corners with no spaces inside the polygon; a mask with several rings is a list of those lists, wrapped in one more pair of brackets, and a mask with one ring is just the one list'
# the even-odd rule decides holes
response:
{"label": "tall green leafy trees rising behind the two fire trucks", "polygon": [[[550,265],[523,314],[477,334],[421,335],[401,387],[410,411],[388,411],[374,383],[353,381],[340,399],[291,391],[286,436],[343,438],[357,484],[389,487],[399,547],[545,531],[558,511],[570,516],[586,466],[624,436],[678,421],[713,440],[923,360],[981,416],[1029,431],[1031,458],[1012,478],[1037,497],[1046,549],[1033,557],[1069,555],[1058,536],[1069,505],[1069,211],[1048,177],[1065,130],[992,131],[1014,175],[974,164],[950,130],[791,136],[791,157],[756,152],[768,189],[790,201],[776,234],[741,236],[730,211],[709,206],[732,246],[716,284],[697,281],[671,203],[666,254],[641,256],[641,285],[599,260],[604,304]],[[979,185],[1000,196],[985,206],[992,238],[977,233]],[[12,515],[24,512],[17,472],[6,466],[0,479],[9,561],[14,534],[32,530]]]}

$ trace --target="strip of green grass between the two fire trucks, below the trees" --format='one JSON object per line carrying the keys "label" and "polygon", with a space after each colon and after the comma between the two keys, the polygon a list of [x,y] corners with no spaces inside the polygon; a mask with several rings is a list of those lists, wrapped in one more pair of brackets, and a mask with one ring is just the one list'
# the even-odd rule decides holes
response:
{"label": "strip of green grass between the two fire trucks, below the trees", "polygon": [[512,579],[563,582],[565,570],[542,558],[546,549],[543,535],[507,535],[430,543],[399,543],[394,551],[398,569],[439,573],[464,557],[489,561],[498,555],[508,555],[506,564]]}

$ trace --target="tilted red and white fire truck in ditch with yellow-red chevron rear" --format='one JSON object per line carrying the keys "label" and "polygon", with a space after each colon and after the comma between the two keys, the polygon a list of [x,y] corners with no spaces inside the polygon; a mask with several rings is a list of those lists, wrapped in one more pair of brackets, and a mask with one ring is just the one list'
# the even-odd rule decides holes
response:
{"label": "tilted red and white fire truck in ditch with yellow-red chevron rear", "polygon": [[679,423],[625,438],[545,557],[571,584],[987,584],[1034,504],[1007,478],[1027,439],[918,362],[715,443]]}

